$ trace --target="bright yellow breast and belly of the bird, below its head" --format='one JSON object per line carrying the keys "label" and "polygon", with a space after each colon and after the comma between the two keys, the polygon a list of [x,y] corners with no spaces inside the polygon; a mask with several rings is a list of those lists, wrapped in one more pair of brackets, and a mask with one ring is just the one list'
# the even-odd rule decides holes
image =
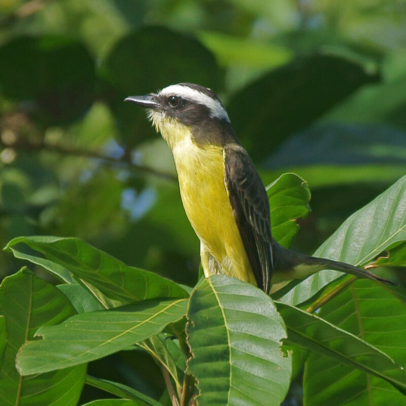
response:
{"label": "bright yellow breast and belly of the bird, below its head", "polygon": [[205,276],[220,273],[256,284],[232,215],[222,147],[208,145],[202,149],[185,137],[172,152],[183,207],[200,240]]}

